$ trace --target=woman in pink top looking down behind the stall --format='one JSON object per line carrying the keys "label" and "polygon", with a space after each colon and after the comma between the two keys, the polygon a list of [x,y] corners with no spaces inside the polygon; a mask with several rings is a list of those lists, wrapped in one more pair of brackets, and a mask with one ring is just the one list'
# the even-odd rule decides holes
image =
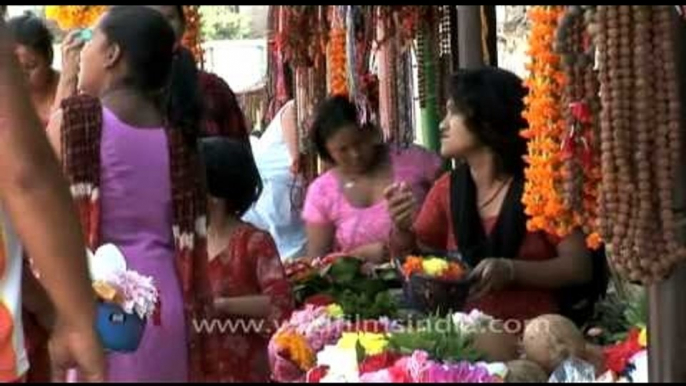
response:
{"label": "woman in pink top looking down behind the stall", "polygon": [[357,108],[345,97],[322,103],[312,132],[317,152],[333,168],[310,185],[305,199],[308,256],[346,253],[384,261],[392,225],[384,190],[406,184],[422,202],[440,172],[440,158],[417,146],[383,144],[376,127],[359,123]]}

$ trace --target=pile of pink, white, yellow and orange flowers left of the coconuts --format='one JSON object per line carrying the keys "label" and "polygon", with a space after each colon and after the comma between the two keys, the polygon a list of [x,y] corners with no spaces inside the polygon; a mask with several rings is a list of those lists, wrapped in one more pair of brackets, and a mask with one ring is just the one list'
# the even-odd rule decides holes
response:
{"label": "pile of pink, white, yellow and orange flowers left of the coconuts", "polygon": [[478,362],[477,311],[416,326],[388,318],[352,322],[338,304],[297,311],[269,345],[277,382],[502,382],[504,365]]}

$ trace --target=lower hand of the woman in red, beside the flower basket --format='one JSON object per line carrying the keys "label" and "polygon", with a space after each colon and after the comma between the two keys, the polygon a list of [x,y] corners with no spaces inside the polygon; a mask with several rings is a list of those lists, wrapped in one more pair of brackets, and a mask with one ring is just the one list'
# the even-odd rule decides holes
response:
{"label": "lower hand of the woman in red, beside the flower basket", "polygon": [[514,262],[510,259],[488,258],[482,260],[469,274],[473,283],[469,291],[471,299],[478,299],[492,292],[501,291],[514,282]]}

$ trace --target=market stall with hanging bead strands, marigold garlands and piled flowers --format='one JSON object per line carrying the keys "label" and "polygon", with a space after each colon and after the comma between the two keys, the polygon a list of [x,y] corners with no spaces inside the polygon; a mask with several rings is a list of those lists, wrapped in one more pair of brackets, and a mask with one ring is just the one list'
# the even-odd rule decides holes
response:
{"label": "market stall with hanging bead strands, marigold garlands and piled flowers", "polygon": [[[186,7],[184,42],[202,63],[197,6]],[[90,25],[102,7],[46,11],[67,29]],[[621,337],[602,343],[560,315],[508,332],[508,321],[458,312],[469,268],[449,256],[397,256],[374,270],[329,256],[287,267],[300,309],[272,337],[274,380],[639,382],[648,367],[653,380],[684,380],[678,359],[685,349],[676,344],[686,332],[679,12],[618,5],[529,13],[529,126],[521,133],[529,140],[528,227],[559,237],[583,229],[587,246],[604,251],[617,277],[650,289],[650,320],[632,318],[615,331]],[[322,170],[309,127],[329,94],[353,100],[386,141],[409,144],[419,131],[436,150],[445,78],[497,63],[490,13],[479,6],[270,7],[266,120],[288,101],[284,66],[291,66],[303,177]]]}

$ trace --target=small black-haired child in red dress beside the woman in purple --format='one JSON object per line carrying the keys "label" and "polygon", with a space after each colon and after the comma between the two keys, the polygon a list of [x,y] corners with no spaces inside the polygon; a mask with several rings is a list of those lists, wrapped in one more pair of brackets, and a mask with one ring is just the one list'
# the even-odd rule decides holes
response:
{"label": "small black-haired child in red dress beside the woman in purple", "polygon": [[[272,237],[241,216],[262,190],[248,144],[202,140],[208,189],[209,278],[219,315],[233,323],[207,341],[207,382],[268,382],[269,334],[290,316],[293,293]],[[242,320],[241,320],[242,319]]]}

